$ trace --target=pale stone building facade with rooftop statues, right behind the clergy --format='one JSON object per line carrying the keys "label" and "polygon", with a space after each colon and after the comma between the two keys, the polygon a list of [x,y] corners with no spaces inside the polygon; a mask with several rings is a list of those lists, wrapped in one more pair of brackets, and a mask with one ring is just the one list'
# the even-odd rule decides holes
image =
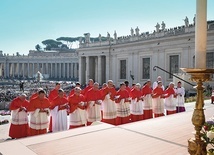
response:
{"label": "pale stone building facade with rooftop statues, right behind the clergy", "polygon": [[[186,23],[185,23],[186,24]],[[139,33],[139,28],[131,29],[128,36],[110,38],[107,41],[80,43],[79,81],[87,83],[92,78],[100,84],[111,79],[118,86],[128,80],[143,84],[148,79],[155,81],[162,76],[167,85],[173,74],[180,74],[180,68],[194,68],[195,64],[195,26],[184,25],[166,29],[156,25],[153,33]],[[89,40],[88,38],[85,40]],[[207,29],[207,68],[214,68],[214,21],[208,22]]]}

